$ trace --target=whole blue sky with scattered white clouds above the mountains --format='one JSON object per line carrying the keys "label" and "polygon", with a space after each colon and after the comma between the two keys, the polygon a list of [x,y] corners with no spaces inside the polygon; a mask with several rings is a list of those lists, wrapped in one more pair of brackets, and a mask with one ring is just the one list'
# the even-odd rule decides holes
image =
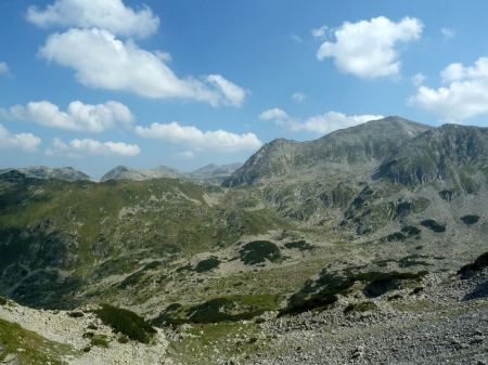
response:
{"label": "whole blue sky with scattered white clouds above the mountains", "polygon": [[387,116],[488,127],[488,2],[2,0],[0,169],[244,162]]}

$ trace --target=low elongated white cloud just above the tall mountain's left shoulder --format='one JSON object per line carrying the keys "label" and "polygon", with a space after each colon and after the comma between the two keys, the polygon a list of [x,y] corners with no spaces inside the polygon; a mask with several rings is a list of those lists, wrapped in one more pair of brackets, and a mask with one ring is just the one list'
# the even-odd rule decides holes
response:
{"label": "low elongated white cloud just above the tall mountain's left shoulder", "polygon": [[261,119],[273,119],[279,126],[282,126],[292,131],[306,130],[326,134],[337,129],[359,126],[370,120],[383,119],[381,115],[360,115],[348,117],[343,113],[329,112],[323,115],[310,117],[308,119],[293,118],[281,109],[269,109],[260,115]]}

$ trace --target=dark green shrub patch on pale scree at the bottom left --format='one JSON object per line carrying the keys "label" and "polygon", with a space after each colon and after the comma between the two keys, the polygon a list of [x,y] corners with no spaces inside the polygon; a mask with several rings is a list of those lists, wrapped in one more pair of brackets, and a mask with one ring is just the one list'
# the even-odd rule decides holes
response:
{"label": "dark green shrub patch on pale scree at the bottom left", "polygon": [[133,341],[149,343],[156,333],[144,318],[128,310],[102,304],[102,308],[94,313],[104,325],[112,327],[116,334],[120,333]]}

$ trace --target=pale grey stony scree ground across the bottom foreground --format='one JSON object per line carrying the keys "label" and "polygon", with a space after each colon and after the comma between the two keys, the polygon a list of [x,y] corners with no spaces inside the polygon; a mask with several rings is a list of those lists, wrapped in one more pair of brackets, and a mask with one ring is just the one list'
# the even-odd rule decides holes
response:
{"label": "pale grey stony scree ground across the bottom foreground", "polygon": [[[152,344],[119,343],[89,307],[79,309],[82,317],[73,317],[73,312],[37,311],[9,302],[0,305],[0,318],[69,344],[72,353],[63,359],[67,364],[488,363],[488,271],[464,279],[454,272],[434,273],[420,286],[377,298],[367,298],[360,286],[356,289],[326,311],[282,317],[267,313],[255,321],[258,325],[232,324],[229,328],[243,331],[216,341],[205,339],[206,333],[196,326],[183,325],[158,329]],[[108,348],[90,346],[84,336],[90,325]],[[202,342],[175,351],[187,338],[198,336]],[[246,351],[239,350],[243,343]],[[90,351],[84,352],[87,347]]]}

